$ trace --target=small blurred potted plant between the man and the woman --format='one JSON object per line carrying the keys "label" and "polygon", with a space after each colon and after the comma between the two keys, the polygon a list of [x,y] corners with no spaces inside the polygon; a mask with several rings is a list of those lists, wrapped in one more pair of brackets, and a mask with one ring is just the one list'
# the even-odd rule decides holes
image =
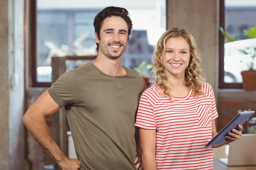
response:
{"label": "small blurred potted plant between the man and the woman", "polygon": [[141,77],[143,77],[147,87],[149,85],[150,72],[152,68],[153,68],[153,65],[151,64],[146,65],[145,61],[141,62],[138,67],[134,68],[134,71],[136,71]]}

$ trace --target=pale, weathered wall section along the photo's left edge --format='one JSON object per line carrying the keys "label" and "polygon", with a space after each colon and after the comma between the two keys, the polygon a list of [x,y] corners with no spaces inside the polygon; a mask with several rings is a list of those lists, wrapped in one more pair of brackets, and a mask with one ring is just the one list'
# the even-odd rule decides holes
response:
{"label": "pale, weathered wall section along the photo's left edge", "polygon": [[23,0],[0,0],[0,170],[24,170],[23,4]]}

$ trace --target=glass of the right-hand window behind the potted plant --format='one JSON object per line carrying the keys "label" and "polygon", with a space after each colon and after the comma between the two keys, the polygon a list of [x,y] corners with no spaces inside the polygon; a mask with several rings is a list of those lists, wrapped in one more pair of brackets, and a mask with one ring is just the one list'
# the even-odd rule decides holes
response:
{"label": "glass of the right-hand window behind the potted plant", "polygon": [[[241,83],[241,71],[249,69],[248,65],[255,63],[251,54],[256,53],[256,38],[250,39],[244,30],[256,26],[255,0],[225,0],[225,31],[237,39],[230,42],[227,38],[224,43],[224,82]],[[245,50],[249,54],[243,54]],[[256,63],[254,64],[254,69]]]}

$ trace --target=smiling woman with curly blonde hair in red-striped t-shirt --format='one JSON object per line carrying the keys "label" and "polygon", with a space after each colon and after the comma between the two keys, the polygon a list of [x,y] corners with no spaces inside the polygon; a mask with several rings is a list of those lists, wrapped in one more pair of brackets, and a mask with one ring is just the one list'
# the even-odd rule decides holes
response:
{"label": "smiling woman with curly blonde hair in red-striped t-shirt", "polygon": [[[218,117],[211,85],[204,82],[195,40],[171,28],[160,37],[153,56],[154,83],[141,98],[140,127],[144,170],[212,170],[212,146]],[[241,136],[233,130],[221,147]]]}

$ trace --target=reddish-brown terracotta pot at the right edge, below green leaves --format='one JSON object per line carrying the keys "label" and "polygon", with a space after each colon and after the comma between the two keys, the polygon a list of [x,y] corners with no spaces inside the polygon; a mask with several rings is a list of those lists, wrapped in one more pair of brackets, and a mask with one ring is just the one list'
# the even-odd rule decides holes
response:
{"label": "reddish-brown terracotta pot at the right edge, below green leaves", "polygon": [[243,88],[245,91],[255,91],[256,90],[256,71],[242,71],[243,78]]}

